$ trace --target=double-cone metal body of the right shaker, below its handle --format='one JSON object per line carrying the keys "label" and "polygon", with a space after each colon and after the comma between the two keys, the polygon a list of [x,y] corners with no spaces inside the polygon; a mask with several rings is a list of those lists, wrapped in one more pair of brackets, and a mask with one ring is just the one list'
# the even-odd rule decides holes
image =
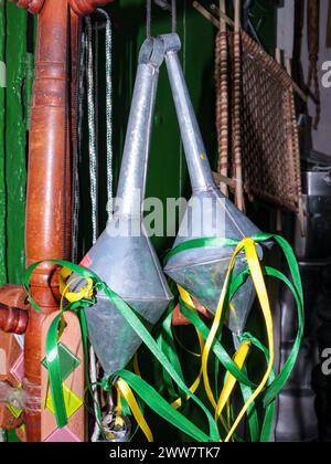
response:
{"label": "double-cone metal body of the right shaker, below its handle", "polygon": [[[202,208],[201,222],[196,223],[196,214],[192,214],[192,211],[195,210],[197,203],[206,205],[206,199],[211,200],[210,204],[213,205],[214,212],[212,211],[211,215],[210,212],[205,211],[206,207]],[[221,228],[215,229],[214,225],[220,214],[224,215],[225,222]],[[203,217],[210,217],[212,220],[205,222]],[[189,234],[185,235],[186,230]],[[215,187],[215,189],[210,191],[193,194],[182,220],[182,226],[174,246],[199,238],[232,238],[239,240],[257,232],[258,229],[244,214],[239,213],[234,204],[228,199],[225,199]],[[189,250],[170,259],[164,267],[164,272],[212,314],[215,314],[233,252],[233,247],[225,246]],[[241,254],[235,265],[234,275],[238,275],[246,266],[245,255]],[[244,329],[254,299],[253,282],[248,278],[228,308],[226,325],[234,334],[239,334]]]}

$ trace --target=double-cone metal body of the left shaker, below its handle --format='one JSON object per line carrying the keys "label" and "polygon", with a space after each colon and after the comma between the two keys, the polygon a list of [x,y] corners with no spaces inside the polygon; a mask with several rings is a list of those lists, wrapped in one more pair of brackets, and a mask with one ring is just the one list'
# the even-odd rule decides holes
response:
{"label": "double-cone metal body of the left shaker, below its handle", "polygon": [[[172,295],[140,218],[121,220],[121,226],[132,226],[139,231],[138,236],[113,236],[115,221],[116,218],[88,253],[89,267],[151,328]],[[85,314],[90,342],[106,376],[110,376],[129,362],[141,340],[103,293]]]}

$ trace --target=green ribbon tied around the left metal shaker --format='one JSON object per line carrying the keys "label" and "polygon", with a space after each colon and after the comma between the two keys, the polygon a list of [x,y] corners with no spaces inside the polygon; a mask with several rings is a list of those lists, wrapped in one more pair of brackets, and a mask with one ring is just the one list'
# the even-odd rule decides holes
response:
{"label": "green ribbon tied around the left metal shaker", "polygon": [[[141,338],[141,340],[146,344],[146,346],[151,350],[152,355],[160,361],[163,369],[167,370],[167,372],[170,375],[170,377],[174,380],[174,382],[179,386],[180,389],[182,389],[186,394],[190,394],[191,399],[196,402],[196,404],[203,410],[207,418],[209,426],[210,426],[210,434],[206,435],[202,431],[200,431],[200,434],[197,436],[196,431],[199,430],[191,421],[189,421],[186,418],[183,416],[178,411],[174,411],[170,404],[168,404],[168,411],[164,412],[164,400],[162,397],[152,388],[148,390],[148,403],[153,399],[154,401],[159,401],[159,403],[162,403],[162,408],[158,409],[157,412],[162,415],[166,420],[171,421],[171,423],[183,430],[185,433],[188,433],[190,436],[192,436],[194,440],[207,442],[216,442],[218,441],[218,430],[217,425],[215,424],[215,421],[207,410],[207,408],[203,404],[203,402],[196,398],[194,394],[190,392],[190,389],[184,383],[183,379],[180,377],[180,375],[177,372],[177,370],[173,368],[171,362],[168,360],[167,356],[161,351],[161,349],[158,347],[158,344],[152,338],[148,329],[145,327],[145,325],[140,321],[139,317],[136,315],[135,310],[115,292],[113,292],[105,283],[103,283],[98,276],[86,268],[83,268],[81,266],[77,266],[75,264],[62,261],[62,260],[49,260],[49,262],[55,263],[60,266],[67,267],[68,270],[75,272],[77,275],[81,275],[82,277],[88,277],[94,281],[95,284],[95,291],[96,292],[104,292],[104,294],[108,297],[108,299],[117,307],[118,312],[125,317],[126,321],[132,327],[132,329],[137,333],[137,335]],[[38,306],[38,304],[33,300],[32,296],[29,292],[29,282],[31,278],[32,273],[34,270],[42,264],[43,262],[34,263],[29,270],[26,271],[26,275],[24,278],[24,288],[28,293],[29,300],[33,308],[41,313],[41,308]],[[95,304],[95,299],[92,300],[84,300],[83,304],[79,307],[79,304],[82,302],[77,302],[74,305],[68,305],[66,310],[78,310],[79,315],[82,316],[84,314],[83,309],[87,306],[93,306]],[[79,308],[79,309],[78,309]],[[61,323],[61,319],[63,317],[63,313],[56,316],[54,321],[52,323],[47,337],[46,337],[46,359],[47,359],[47,369],[49,369],[49,376],[50,376],[50,384],[51,384],[51,394],[53,400],[53,407],[55,411],[55,418],[57,426],[64,428],[67,425],[67,414],[65,410],[65,403],[64,403],[64,396],[63,396],[63,379],[61,377],[61,365],[60,365],[60,356],[58,356],[58,326]],[[85,321],[85,316],[83,317],[83,321]],[[82,320],[82,319],[81,319]],[[85,344],[87,346],[87,333],[82,331],[82,337],[85,339]],[[87,352],[86,352],[87,356]],[[85,358],[87,359],[87,358]],[[128,371],[120,371],[116,372],[111,379],[109,379],[109,383],[113,382],[116,377],[119,375],[125,380],[127,379],[127,375],[125,372]],[[131,373],[131,372],[130,372]],[[134,375],[132,375],[134,376]],[[129,382],[135,379],[135,382],[129,383],[131,388],[137,390],[140,386],[140,389],[142,391],[146,391],[146,382],[142,379],[139,379],[137,376],[137,379],[132,376],[129,376],[128,380]],[[138,387],[137,387],[138,386]],[[140,390],[139,390],[140,391]],[[188,423],[191,424],[191,428],[188,428]]]}

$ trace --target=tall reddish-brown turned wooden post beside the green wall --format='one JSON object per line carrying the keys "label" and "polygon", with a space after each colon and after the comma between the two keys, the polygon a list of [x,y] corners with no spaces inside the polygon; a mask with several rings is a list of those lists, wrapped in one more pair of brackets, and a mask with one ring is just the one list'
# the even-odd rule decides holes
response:
{"label": "tall reddish-brown turned wooden post beside the green wall", "polygon": [[[29,266],[36,261],[70,256],[71,118],[67,96],[70,89],[74,92],[75,82],[70,83],[67,75],[68,4],[72,7],[71,59],[75,67],[76,14],[88,14],[113,0],[13,1],[18,7],[39,13],[25,222]],[[32,276],[30,291],[43,314],[30,309],[24,352],[24,389],[30,398],[25,410],[29,442],[41,441],[41,334],[45,316],[58,309],[57,287],[56,266],[51,263],[39,266]],[[14,315],[18,317],[21,313]]]}

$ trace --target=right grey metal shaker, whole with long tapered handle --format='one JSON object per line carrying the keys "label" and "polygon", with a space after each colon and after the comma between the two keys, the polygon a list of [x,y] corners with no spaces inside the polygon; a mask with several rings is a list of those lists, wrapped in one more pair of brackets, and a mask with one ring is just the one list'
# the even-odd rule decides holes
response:
{"label": "right grey metal shaker, whole with long tapered handle", "polygon": [[[174,246],[197,238],[243,239],[258,233],[259,230],[220,192],[214,182],[178,55],[180,39],[177,34],[161,38],[193,190]],[[185,251],[171,257],[164,272],[214,314],[233,252],[232,247]],[[246,265],[243,255],[237,261],[235,274]],[[234,334],[244,329],[254,299],[255,291],[249,278],[228,312],[227,325]]]}

